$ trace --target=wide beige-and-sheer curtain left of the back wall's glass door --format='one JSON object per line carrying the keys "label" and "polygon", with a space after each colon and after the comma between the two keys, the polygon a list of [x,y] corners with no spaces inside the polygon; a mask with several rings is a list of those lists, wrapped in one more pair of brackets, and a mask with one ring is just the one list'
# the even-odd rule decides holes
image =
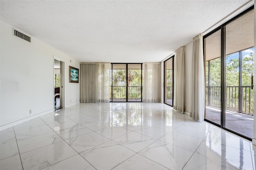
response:
{"label": "wide beige-and-sheer curtain left of the back wall's glass door", "polygon": [[80,101],[109,102],[110,63],[80,63]]}

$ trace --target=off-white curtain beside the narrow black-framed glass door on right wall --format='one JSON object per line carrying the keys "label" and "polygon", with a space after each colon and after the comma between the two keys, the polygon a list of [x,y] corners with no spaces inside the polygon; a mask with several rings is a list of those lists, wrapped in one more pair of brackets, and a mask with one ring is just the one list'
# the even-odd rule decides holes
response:
{"label": "off-white curtain beside the narrow black-framed glass door on right wall", "polygon": [[174,53],[174,99],[173,109],[184,112],[185,84],[185,47],[182,46]]}

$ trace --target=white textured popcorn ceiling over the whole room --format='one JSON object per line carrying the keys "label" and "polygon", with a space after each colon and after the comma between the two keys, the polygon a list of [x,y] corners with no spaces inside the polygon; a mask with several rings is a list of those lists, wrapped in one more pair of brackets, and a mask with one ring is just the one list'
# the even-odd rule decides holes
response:
{"label": "white textured popcorn ceiling over the whole room", "polygon": [[248,0],[13,1],[1,19],[78,61],[156,62]]}

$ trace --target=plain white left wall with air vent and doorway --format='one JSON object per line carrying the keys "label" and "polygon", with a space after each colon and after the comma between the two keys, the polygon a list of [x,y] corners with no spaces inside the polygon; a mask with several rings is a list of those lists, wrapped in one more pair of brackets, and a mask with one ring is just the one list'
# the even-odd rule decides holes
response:
{"label": "plain white left wall with air vent and doorway", "polygon": [[0,127],[53,111],[53,56],[65,61],[65,106],[79,101],[79,83],[69,83],[68,73],[69,65],[80,68],[78,61],[34,37],[29,43],[13,36],[2,20],[0,26]]}

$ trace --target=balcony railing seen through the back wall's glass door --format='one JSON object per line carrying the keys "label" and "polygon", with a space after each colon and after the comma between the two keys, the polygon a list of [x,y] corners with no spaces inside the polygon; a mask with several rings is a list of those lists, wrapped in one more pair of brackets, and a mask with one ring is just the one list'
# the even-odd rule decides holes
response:
{"label": "balcony railing seen through the back wall's glass door", "polygon": [[[128,99],[141,99],[141,86],[128,86]],[[126,99],[126,86],[110,86],[110,97],[112,99]]]}

